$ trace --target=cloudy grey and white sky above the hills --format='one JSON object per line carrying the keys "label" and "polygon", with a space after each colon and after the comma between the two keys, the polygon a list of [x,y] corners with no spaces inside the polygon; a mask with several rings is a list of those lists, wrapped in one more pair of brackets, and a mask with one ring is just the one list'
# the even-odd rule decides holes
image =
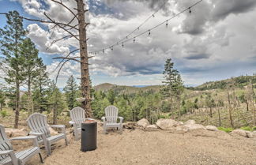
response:
{"label": "cloudy grey and white sky above the hills", "polygon": [[[74,0],[62,0],[72,9]],[[107,47],[126,37],[148,17],[154,14],[133,35],[168,20],[198,0],[88,0],[86,19],[88,51]],[[163,6],[164,4],[164,6]],[[21,15],[42,18],[43,13],[55,21],[68,22],[72,14],[51,0],[0,0],[0,12],[16,9]],[[161,84],[164,62],[172,58],[185,84],[197,85],[205,81],[256,73],[256,1],[203,0],[191,9],[148,33],[114,50],[95,54],[90,59],[92,84],[104,82],[126,85]],[[0,17],[0,28],[6,24]],[[75,24],[75,23],[74,23]],[[50,77],[55,78],[59,60],[78,47],[76,39],[65,39],[53,44],[54,39],[66,36],[61,29],[49,31],[52,24],[24,21],[28,37],[36,43],[40,57],[47,65]],[[132,36],[129,36],[131,38]],[[76,56],[78,53],[73,53]],[[79,78],[80,66],[67,62],[58,86],[66,84],[67,77]]]}

